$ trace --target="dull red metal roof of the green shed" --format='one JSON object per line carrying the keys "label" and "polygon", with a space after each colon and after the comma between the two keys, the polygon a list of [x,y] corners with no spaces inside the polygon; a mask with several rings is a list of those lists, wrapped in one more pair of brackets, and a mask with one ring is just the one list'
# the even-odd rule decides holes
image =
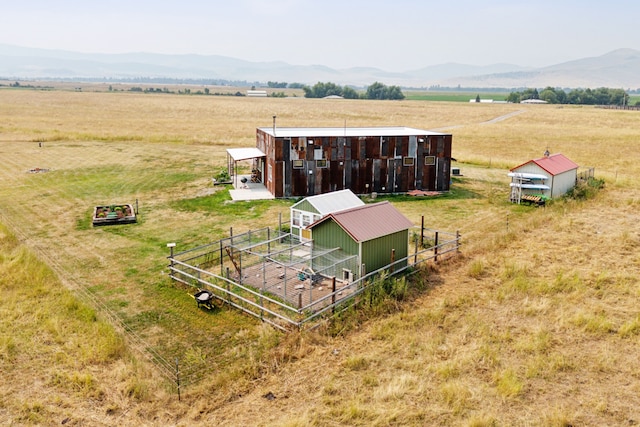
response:
{"label": "dull red metal roof of the green shed", "polygon": [[388,201],[331,213],[311,224],[310,228],[329,219],[333,219],[356,242],[366,242],[413,227],[413,223]]}

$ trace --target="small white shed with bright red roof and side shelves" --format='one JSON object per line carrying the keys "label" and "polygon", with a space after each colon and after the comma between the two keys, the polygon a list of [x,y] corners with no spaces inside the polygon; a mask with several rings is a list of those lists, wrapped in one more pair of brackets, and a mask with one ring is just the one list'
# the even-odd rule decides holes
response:
{"label": "small white shed with bright red roof and side shelves", "polygon": [[529,160],[509,172],[513,202],[560,197],[576,185],[578,165],[562,154]]}

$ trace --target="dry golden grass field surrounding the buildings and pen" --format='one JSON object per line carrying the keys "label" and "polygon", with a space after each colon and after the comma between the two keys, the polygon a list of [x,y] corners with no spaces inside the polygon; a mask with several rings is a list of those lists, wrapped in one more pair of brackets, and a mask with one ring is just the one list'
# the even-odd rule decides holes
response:
{"label": "dry golden grass field surrounding the buildings and pen", "polygon": [[[390,200],[459,230],[462,254],[337,335],[196,309],[166,276],[168,242],[288,218],[290,201],[232,203],[211,185],[273,115],[453,133],[451,194]],[[5,89],[0,117],[2,425],[640,424],[637,112]],[[605,188],[508,203],[507,170],[547,148]],[[93,206],[135,200],[137,224],[91,227]]]}

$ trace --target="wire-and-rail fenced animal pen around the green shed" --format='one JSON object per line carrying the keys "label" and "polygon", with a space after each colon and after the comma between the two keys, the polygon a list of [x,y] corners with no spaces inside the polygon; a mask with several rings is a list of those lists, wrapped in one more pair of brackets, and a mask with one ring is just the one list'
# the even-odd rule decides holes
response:
{"label": "wire-and-rail fenced animal pen around the green shed", "polygon": [[393,276],[459,249],[459,233],[416,229],[410,256],[389,254],[387,266],[370,272],[357,255],[264,228],[176,254],[172,248],[169,275],[278,329],[303,328],[350,306],[381,272]]}

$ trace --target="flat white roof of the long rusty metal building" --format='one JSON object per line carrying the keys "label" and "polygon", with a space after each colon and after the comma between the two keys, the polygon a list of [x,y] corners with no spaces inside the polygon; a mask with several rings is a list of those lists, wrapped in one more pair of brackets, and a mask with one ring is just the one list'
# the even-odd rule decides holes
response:
{"label": "flat white roof of the long rusty metal building", "polygon": [[353,137],[353,136],[418,136],[418,135],[445,135],[425,129],[409,128],[404,126],[391,127],[358,127],[358,128],[258,128],[262,132],[279,138],[294,137]]}

